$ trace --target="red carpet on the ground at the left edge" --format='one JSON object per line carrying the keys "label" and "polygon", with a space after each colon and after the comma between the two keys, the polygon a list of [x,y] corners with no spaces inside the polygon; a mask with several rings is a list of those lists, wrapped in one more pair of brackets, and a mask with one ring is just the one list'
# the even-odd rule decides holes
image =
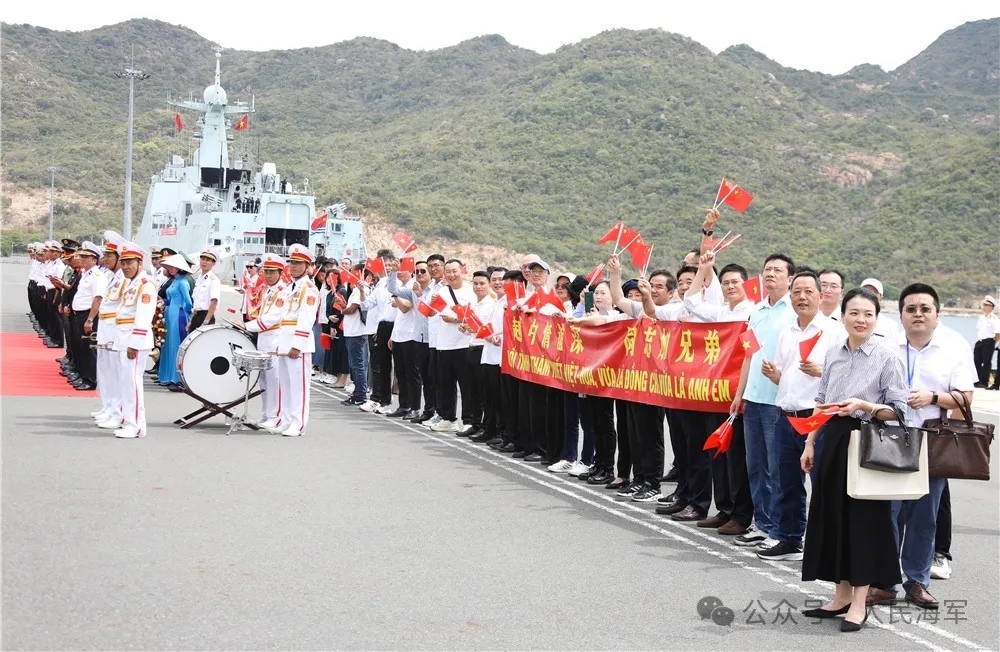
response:
{"label": "red carpet on the ground at the left edge", "polygon": [[[59,375],[56,358],[64,349],[46,348],[34,333],[0,333],[0,394],[3,396],[93,397]],[[53,409],[58,409],[53,406]]]}

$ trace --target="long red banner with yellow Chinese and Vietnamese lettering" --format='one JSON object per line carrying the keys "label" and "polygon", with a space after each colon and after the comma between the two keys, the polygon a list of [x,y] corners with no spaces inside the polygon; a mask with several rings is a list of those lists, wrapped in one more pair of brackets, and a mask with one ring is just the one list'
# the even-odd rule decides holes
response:
{"label": "long red banner with yellow Chinese and Vietnamese lettering", "polygon": [[652,319],[575,326],[507,311],[503,373],[579,394],[728,412],[743,365],[745,322]]}

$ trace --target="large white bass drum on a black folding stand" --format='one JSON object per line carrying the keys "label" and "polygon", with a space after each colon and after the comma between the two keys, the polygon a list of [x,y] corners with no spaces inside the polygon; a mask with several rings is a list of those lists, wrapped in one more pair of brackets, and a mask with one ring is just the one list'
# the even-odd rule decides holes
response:
{"label": "large white bass drum on a black folding stand", "polygon": [[[211,324],[189,333],[177,351],[177,369],[184,387],[216,404],[243,398],[248,374],[233,366],[233,348],[257,350],[243,331],[231,326]],[[259,371],[249,372],[251,389],[259,375]]]}

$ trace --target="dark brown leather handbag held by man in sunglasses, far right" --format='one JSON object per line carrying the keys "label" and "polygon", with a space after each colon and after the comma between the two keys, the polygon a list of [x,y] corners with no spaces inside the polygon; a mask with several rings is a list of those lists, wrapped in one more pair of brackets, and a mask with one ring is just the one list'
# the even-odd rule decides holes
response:
{"label": "dark brown leather handbag held by man in sunglasses, far right", "polygon": [[992,423],[972,420],[972,406],[962,392],[948,392],[964,421],[948,419],[941,410],[940,419],[924,422],[927,434],[927,462],[930,477],[953,480],[989,480],[990,444],[993,443]]}

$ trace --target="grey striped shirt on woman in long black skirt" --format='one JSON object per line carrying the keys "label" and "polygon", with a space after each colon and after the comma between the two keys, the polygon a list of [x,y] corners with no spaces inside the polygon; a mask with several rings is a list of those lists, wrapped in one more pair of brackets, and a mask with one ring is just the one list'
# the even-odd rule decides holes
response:
{"label": "grey striped shirt on woman in long black skirt", "polygon": [[[831,346],[823,364],[816,402],[839,403],[856,398],[879,405],[895,405],[905,413],[910,391],[903,363],[897,353],[880,340],[872,336],[853,351],[848,348],[846,338]],[[851,416],[871,418],[861,410]]]}

